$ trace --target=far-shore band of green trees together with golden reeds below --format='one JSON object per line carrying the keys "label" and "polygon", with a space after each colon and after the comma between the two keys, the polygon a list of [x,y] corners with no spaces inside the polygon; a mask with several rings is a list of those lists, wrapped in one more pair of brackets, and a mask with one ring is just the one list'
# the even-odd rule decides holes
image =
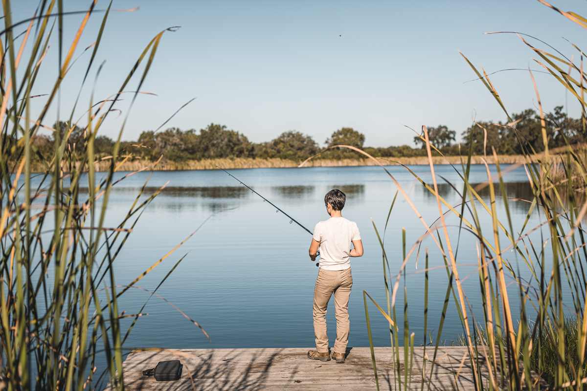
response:
{"label": "far-shore band of green trees together with golden reeds below", "polygon": [[[523,164],[527,155],[539,158],[545,147],[552,152],[568,152],[585,149],[587,130],[582,118],[571,118],[564,107],[557,106],[551,113],[539,115],[533,109],[511,114],[508,121],[477,121],[461,132],[461,142],[456,142],[457,132],[446,125],[427,127],[429,142],[433,147],[434,164],[461,164],[461,157],[471,154],[471,164],[488,162],[495,164],[492,149],[502,164]],[[58,140],[65,141],[74,162],[85,155],[88,134],[85,128],[71,121],[56,121],[52,127],[42,126],[46,134],[37,132],[31,136],[31,166],[35,172],[46,172],[49,159],[55,153]],[[542,140],[545,133],[546,144]],[[116,142],[106,135],[95,135],[93,148],[96,171],[109,171],[116,149],[122,159],[116,162],[115,171],[153,169],[154,171],[180,171],[236,168],[286,168],[301,162],[306,166],[338,167],[365,165],[426,165],[426,142],[422,134],[414,132],[411,145],[369,147],[365,134],[350,127],[332,132],[322,145],[310,135],[296,130],[282,132],[273,140],[249,141],[246,135],[230,130],[225,125],[209,124],[200,130],[167,128],[143,131],[137,140]],[[8,140],[11,135],[0,135],[0,141],[15,144],[15,155],[22,155],[22,140]],[[5,139],[6,138],[6,139]],[[350,145],[365,151],[377,159],[366,159],[356,151],[337,148]],[[20,149],[20,150],[19,150]],[[559,152],[556,152],[559,151]],[[312,157],[307,161],[306,159]],[[485,158],[484,158],[485,157]],[[80,165],[78,163],[78,165]],[[64,171],[69,171],[64,167]]]}

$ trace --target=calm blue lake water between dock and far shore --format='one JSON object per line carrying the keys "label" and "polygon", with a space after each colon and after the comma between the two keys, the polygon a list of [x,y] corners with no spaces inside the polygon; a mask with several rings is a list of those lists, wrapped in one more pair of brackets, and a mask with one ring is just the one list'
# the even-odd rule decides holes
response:
{"label": "calm blue lake water between dock and far shore", "polygon": [[[430,181],[427,166],[411,168],[424,181]],[[495,168],[491,169],[492,175],[496,175]],[[438,216],[436,199],[406,169],[390,166],[389,170],[406,189],[426,222],[432,223]],[[462,182],[453,168],[436,166],[436,170],[438,175],[462,189]],[[385,303],[382,250],[373,224],[383,233],[387,212],[396,192],[389,176],[377,167],[238,169],[231,172],[311,230],[316,222],[328,218],[323,205],[324,194],[332,188],[346,193],[343,215],[357,222],[365,246],[365,256],[352,259],[354,283],[349,304],[349,346],[367,346],[362,291],[366,290],[381,305]],[[139,319],[127,341],[127,348],[313,346],[312,297],[318,268],[307,255],[311,236],[221,171],[143,172],[131,176],[116,185],[112,193],[107,214],[109,225],[115,226],[123,218],[147,179],[147,193],[152,193],[167,181],[169,184],[145,210],[117,259],[116,283],[122,285],[132,281],[212,216],[188,242],[139,284],[142,288],[153,290],[173,264],[185,255],[158,294],[200,322],[210,334],[211,341],[168,302],[153,297],[145,310],[149,315]],[[486,179],[484,166],[473,166],[471,182],[479,183]],[[523,168],[508,172],[505,181],[508,183],[508,196],[530,198]],[[456,192],[446,183],[440,185],[440,191],[451,204],[460,202]],[[500,198],[498,207],[505,221],[502,206]],[[528,204],[512,200],[510,209],[514,224],[520,226]],[[487,213],[480,213],[487,227],[486,232],[489,232],[490,219]],[[453,225],[450,227],[453,246],[456,246],[458,237],[457,223],[456,218],[447,215],[447,224]],[[529,226],[537,223],[538,215],[535,215]],[[403,228],[407,232],[408,248],[425,232],[403,196],[399,195],[385,239],[393,276],[402,262]],[[446,293],[447,273],[441,267],[443,260],[431,239],[424,241],[419,260],[415,254],[411,257],[398,295],[398,300],[403,302],[402,287],[405,283],[410,329],[416,333],[416,341],[420,344],[424,339],[423,250],[426,248],[430,250],[430,267],[434,268],[430,271],[428,328],[436,335]],[[510,260],[515,264],[513,257],[512,253]],[[462,233],[458,263],[465,294],[481,321],[477,252],[470,233]],[[124,294],[119,308],[134,314],[148,297],[146,291],[130,290]],[[330,305],[333,305],[332,301]],[[402,312],[402,308],[403,304],[400,304],[398,311]],[[329,308],[327,319],[331,344],[335,338],[333,312],[333,307]],[[389,345],[386,321],[373,306],[370,307],[370,315],[375,344]],[[453,341],[462,332],[451,298],[444,339]]]}

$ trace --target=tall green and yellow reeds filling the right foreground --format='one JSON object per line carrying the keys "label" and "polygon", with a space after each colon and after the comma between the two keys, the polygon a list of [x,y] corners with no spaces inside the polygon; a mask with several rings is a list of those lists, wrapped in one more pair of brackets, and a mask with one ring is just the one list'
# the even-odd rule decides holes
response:
{"label": "tall green and yellow reeds filling the right foreground", "polygon": [[[587,19],[574,12],[564,12],[544,0],[541,4],[554,9],[572,22],[587,28]],[[515,38],[515,36],[514,36]],[[583,69],[583,52],[578,50],[573,62],[552,46],[518,33],[522,45],[527,46],[536,56],[538,66],[549,72],[562,86],[572,94],[582,106],[583,123],[587,104],[583,100],[587,77]],[[531,42],[546,46],[538,49]],[[483,69],[479,70],[463,55],[480,82],[490,91],[508,118],[504,125],[515,131],[515,121],[508,114],[498,91],[491,83]],[[529,73],[534,81],[534,76]],[[429,290],[429,254],[426,253],[424,290],[424,336],[434,330],[432,344],[426,347],[423,368],[413,369],[393,366],[394,376],[390,387],[394,390],[420,389],[430,390],[436,387],[430,383],[431,374],[437,370],[435,360],[438,346],[446,343],[443,336],[444,319],[448,305],[456,307],[456,313],[463,327],[461,343],[467,346],[468,354],[463,357],[461,367],[465,365],[471,373],[476,390],[522,390],[542,389],[548,387],[556,390],[583,390],[587,387],[587,232],[583,224],[587,212],[587,202],[578,197],[576,189],[585,187],[586,161],[584,152],[568,145],[554,155],[548,151],[544,114],[542,113],[539,86],[535,83],[535,95],[542,115],[542,141],[545,153],[535,154],[524,136],[518,134],[519,142],[525,149],[522,164],[527,171],[528,186],[532,196],[527,199],[528,212],[524,221],[512,221],[510,206],[500,164],[504,161],[498,157],[491,146],[487,147],[487,158],[483,164],[489,164],[490,158],[497,165],[497,178],[487,165],[487,182],[472,186],[469,173],[473,157],[463,157],[454,164],[454,169],[461,176],[461,183],[454,186],[458,196],[457,205],[451,205],[438,192],[438,178],[434,172],[433,153],[436,148],[430,145],[426,127],[423,127],[422,140],[426,142],[431,181],[424,182],[409,168],[414,178],[418,179],[436,199],[438,218],[435,221],[424,219],[409,194],[404,191],[393,174],[384,166],[390,181],[397,187],[395,196],[390,196],[390,209],[382,213],[385,227],[393,208],[396,196],[403,198],[414,215],[422,224],[422,234],[416,243],[406,243],[403,234],[403,257],[389,259],[384,245],[385,231],[373,222],[373,228],[379,237],[382,251],[382,280],[385,287],[384,298],[374,298],[363,291],[367,333],[373,347],[370,319],[373,311],[382,315],[389,324],[390,344],[393,355],[390,365],[399,362],[399,355],[404,355],[405,363],[412,362],[414,350],[414,333],[407,321],[409,311],[405,285],[406,267],[414,261],[421,243],[426,240],[436,247],[444,263],[447,274],[444,304],[440,319],[426,316],[429,309],[427,294]],[[348,145],[340,148],[352,149],[371,159],[373,164],[381,164],[366,152]],[[439,153],[439,151],[436,151]],[[496,184],[497,183],[497,184]],[[488,189],[488,198],[479,195],[481,188]],[[501,196],[505,210],[498,210],[495,199]],[[458,237],[454,225],[448,226],[449,215],[458,219]],[[531,219],[532,216],[539,217]],[[490,226],[481,225],[481,220],[490,220]],[[538,223],[530,223],[538,221]],[[461,237],[463,236],[463,237]],[[477,248],[478,285],[474,292],[467,292],[462,284],[460,264],[470,262],[461,259],[463,252],[458,251],[464,244],[473,243]],[[529,276],[529,277],[527,277]],[[438,287],[438,282],[434,282]],[[402,302],[397,294],[403,290]],[[469,302],[468,297],[480,297],[481,302]],[[384,301],[384,304],[379,304]],[[473,318],[473,308],[481,308],[482,319]],[[399,315],[399,316],[398,316]],[[477,327],[477,322],[481,325]],[[480,338],[483,336],[483,338]],[[424,339],[427,339],[424,338]],[[399,347],[403,345],[403,349]],[[401,352],[401,353],[400,353]],[[380,378],[377,373],[375,352],[372,349],[373,372],[379,390]],[[414,375],[411,376],[411,371]],[[467,370],[463,368],[463,370]],[[451,376],[451,374],[448,374]],[[454,379],[458,377],[453,373]],[[417,380],[414,380],[417,379]],[[390,380],[390,378],[387,378]],[[454,383],[454,389],[458,389]]]}

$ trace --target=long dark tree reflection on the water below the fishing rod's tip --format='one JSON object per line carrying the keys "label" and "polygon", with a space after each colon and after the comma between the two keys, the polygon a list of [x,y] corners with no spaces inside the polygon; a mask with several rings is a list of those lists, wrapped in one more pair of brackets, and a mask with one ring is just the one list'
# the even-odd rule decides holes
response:
{"label": "long dark tree reflection on the water below the fishing rod's tip", "polygon": [[[147,186],[144,195],[151,195],[159,188]],[[87,188],[80,188],[80,192],[86,192]],[[140,188],[112,188],[113,193],[139,193]],[[250,191],[242,186],[168,186],[161,191],[161,195],[168,197],[195,197],[195,198],[244,198]]]}

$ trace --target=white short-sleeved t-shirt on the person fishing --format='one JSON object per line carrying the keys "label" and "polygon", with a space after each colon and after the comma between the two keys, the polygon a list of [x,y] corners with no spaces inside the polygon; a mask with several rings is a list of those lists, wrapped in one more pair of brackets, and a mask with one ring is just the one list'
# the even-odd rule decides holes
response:
{"label": "white short-sleeved t-shirt on the person fishing", "polygon": [[314,227],[314,240],[320,242],[320,267],[345,270],[350,267],[350,246],[360,240],[359,227],[345,217],[330,217]]}

